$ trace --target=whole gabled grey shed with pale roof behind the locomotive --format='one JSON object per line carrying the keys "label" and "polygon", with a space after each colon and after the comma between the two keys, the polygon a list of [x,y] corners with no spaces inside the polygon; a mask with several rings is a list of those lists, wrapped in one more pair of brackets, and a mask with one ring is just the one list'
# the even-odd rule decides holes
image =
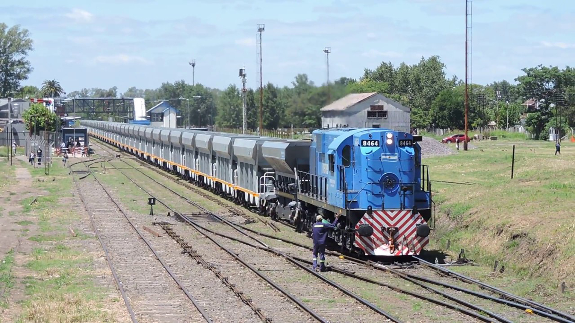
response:
{"label": "whole gabled grey shed with pale roof behind the locomotive", "polygon": [[321,108],[322,128],[386,128],[411,132],[411,109],[376,92],[352,93]]}

